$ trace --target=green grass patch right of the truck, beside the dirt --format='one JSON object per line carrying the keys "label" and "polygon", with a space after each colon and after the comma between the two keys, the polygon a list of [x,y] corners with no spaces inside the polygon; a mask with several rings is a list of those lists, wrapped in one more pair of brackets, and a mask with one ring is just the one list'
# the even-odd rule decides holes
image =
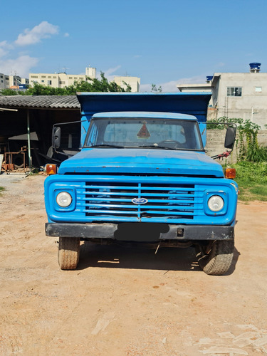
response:
{"label": "green grass patch right of the truck, beside the dirt", "polygon": [[267,162],[238,162],[231,167],[236,168],[239,200],[267,201]]}

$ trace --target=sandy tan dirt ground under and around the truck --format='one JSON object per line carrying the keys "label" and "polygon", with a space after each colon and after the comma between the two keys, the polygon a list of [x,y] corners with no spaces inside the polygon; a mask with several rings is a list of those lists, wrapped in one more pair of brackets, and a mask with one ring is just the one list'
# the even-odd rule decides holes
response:
{"label": "sandy tan dirt ground under and around the truck", "polygon": [[44,178],[0,176],[0,355],[267,354],[266,203],[239,204],[226,276],[193,248],[90,243],[61,271]]}

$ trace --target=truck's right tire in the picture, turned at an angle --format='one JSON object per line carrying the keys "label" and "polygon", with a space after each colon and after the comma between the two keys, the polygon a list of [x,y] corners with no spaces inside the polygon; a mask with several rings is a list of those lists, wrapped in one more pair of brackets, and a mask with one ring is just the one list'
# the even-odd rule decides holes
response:
{"label": "truck's right tire in the picture, turned at an angle", "polygon": [[216,240],[196,246],[199,266],[209,275],[221,276],[226,273],[234,257],[234,240]]}

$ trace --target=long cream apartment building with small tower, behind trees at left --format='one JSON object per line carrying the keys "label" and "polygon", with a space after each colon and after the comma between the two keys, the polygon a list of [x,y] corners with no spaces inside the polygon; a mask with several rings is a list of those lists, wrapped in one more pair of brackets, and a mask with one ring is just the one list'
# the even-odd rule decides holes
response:
{"label": "long cream apartment building with small tower, behind trees at left", "polygon": [[33,83],[39,83],[46,86],[51,86],[53,88],[64,88],[69,85],[73,85],[75,82],[81,80],[87,81],[88,77],[91,79],[96,78],[96,68],[91,68],[90,66],[85,68],[85,75],[83,74],[67,74],[63,73],[30,73],[29,82],[30,85]]}

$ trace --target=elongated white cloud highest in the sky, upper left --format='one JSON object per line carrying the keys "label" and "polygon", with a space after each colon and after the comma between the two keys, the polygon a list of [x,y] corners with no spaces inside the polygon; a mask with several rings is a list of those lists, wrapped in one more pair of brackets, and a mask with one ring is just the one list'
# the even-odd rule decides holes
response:
{"label": "elongated white cloud highest in the sky, upper left", "polygon": [[31,30],[26,28],[24,33],[19,34],[15,43],[18,46],[28,46],[40,42],[42,38],[48,38],[51,37],[51,35],[56,35],[57,33],[58,26],[52,25],[47,21],[43,21]]}

